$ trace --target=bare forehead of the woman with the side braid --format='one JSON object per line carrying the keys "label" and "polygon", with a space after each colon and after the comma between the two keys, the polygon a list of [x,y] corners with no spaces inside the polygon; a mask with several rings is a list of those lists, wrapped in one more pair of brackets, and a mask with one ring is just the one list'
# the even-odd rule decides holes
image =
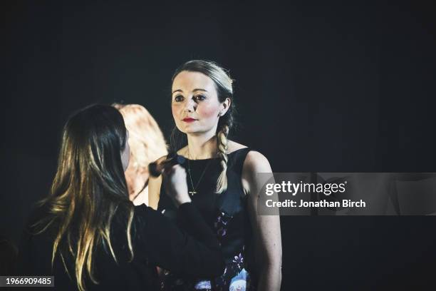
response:
{"label": "bare forehead of the woman with the side braid", "polygon": [[215,84],[211,78],[199,72],[180,72],[172,82],[172,91],[193,91],[194,89],[204,89],[214,91]]}

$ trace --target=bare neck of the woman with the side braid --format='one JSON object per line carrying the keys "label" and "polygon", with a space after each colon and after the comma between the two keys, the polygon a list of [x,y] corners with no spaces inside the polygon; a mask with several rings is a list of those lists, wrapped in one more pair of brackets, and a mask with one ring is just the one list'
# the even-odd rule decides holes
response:
{"label": "bare neck of the woman with the side braid", "polygon": [[214,131],[198,136],[187,135],[187,156],[191,160],[214,158],[217,153],[217,136]]}

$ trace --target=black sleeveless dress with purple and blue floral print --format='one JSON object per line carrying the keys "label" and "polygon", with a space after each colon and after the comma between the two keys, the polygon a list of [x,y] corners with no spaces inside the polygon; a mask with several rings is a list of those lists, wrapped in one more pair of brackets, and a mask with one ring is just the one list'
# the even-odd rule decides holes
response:
{"label": "black sleeveless dress with purple and blue floral print", "polygon": [[[197,192],[191,195],[192,203],[197,206],[209,227],[217,233],[227,267],[224,274],[216,278],[181,277],[164,270],[161,290],[255,290],[256,276],[250,268],[253,265],[251,258],[254,245],[251,243],[254,240],[241,182],[242,166],[249,150],[241,148],[227,155],[227,190],[221,194],[214,193],[221,173],[219,158],[187,160],[185,163],[185,168],[188,168],[189,163],[191,169],[192,182],[187,173],[188,189],[192,191],[193,184]],[[163,185],[157,210],[175,219],[180,227],[189,229],[184,226],[182,218],[176,217],[176,208],[165,194]]]}

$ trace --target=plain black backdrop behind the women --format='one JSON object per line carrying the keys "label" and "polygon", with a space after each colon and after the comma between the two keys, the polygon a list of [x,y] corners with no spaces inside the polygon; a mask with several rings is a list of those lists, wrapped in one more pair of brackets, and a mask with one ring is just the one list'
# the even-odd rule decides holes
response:
{"label": "plain black backdrop behind the women", "polygon": [[[48,192],[68,114],[140,103],[167,135],[170,77],[192,58],[230,69],[234,140],[275,172],[436,172],[432,1],[1,5],[0,228],[14,242]],[[435,287],[435,223],[282,217],[282,290]]]}

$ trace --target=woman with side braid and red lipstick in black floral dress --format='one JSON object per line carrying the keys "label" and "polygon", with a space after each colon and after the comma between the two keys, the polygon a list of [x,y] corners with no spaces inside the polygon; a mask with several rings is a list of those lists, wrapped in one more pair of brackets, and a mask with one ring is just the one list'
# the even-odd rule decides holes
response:
{"label": "woman with side braid and red lipstick in black floral dress", "polygon": [[[262,187],[256,173],[271,173],[268,160],[227,136],[234,119],[232,79],[216,63],[188,61],[172,76],[172,150],[187,158],[192,203],[217,233],[226,271],[191,280],[164,272],[167,290],[279,290],[281,232],[277,215],[258,215]],[[162,157],[165,158],[165,157]],[[160,178],[149,183],[150,205],[175,210]],[[179,223],[188,228],[187,223]],[[250,255],[250,254],[253,254]],[[254,257],[254,262],[247,260]],[[180,280],[182,277],[182,280]],[[181,284],[183,282],[183,284]]]}

